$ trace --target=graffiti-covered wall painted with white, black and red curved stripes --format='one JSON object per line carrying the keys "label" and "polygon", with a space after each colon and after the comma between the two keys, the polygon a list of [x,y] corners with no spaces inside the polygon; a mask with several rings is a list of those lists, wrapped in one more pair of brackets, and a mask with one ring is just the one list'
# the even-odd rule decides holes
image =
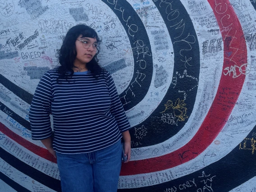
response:
{"label": "graffiti-covered wall painted with white, black and red curved stripes", "polygon": [[0,192],[59,192],[28,112],[70,27],[102,37],[132,125],[120,192],[256,191],[255,0],[0,0]]}

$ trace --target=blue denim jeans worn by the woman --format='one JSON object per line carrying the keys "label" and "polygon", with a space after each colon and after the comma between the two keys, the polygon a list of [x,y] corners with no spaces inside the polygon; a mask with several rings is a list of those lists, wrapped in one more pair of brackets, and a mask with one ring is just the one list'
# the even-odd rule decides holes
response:
{"label": "blue denim jeans worn by the woman", "polygon": [[91,153],[57,153],[62,192],[116,192],[121,170],[121,140]]}

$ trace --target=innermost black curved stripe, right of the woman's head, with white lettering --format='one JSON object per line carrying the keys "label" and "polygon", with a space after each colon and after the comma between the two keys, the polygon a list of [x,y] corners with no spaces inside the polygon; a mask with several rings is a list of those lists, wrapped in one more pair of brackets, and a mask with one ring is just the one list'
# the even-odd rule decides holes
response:
{"label": "innermost black curved stripe, right of the woman's head, with white lettering", "polygon": [[[149,90],[151,79],[153,77],[153,58],[152,58],[151,45],[150,45],[150,41],[146,32],[146,29],[144,27],[144,24],[142,23],[142,20],[138,16],[136,11],[133,9],[132,5],[130,5],[126,0],[118,0],[118,1],[102,0],[102,1],[106,5],[108,5],[110,9],[112,9],[114,14],[119,18],[119,21],[122,23],[123,28],[127,33],[131,48],[133,50],[133,60],[134,60],[133,78],[129,83],[128,88],[119,95],[122,103],[124,104],[123,105],[124,110],[129,110],[133,108],[135,105],[137,105],[140,101],[142,101],[146,96],[147,91]],[[128,22],[125,22],[124,20],[128,20]],[[137,27],[135,27],[135,25]],[[129,33],[131,35],[134,35],[134,37],[129,35]],[[139,47],[138,51],[141,54],[137,54],[137,47]],[[142,52],[146,54],[144,55]],[[147,54],[147,53],[150,53],[150,54]],[[139,61],[141,59],[146,61],[145,69],[142,69],[144,68],[145,63],[144,61]],[[142,68],[140,67],[140,62],[141,62]],[[145,74],[145,76],[140,73]],[[142,75],[143,81],[141,81],[142,80],[142,78],[140,78],[141,75]],[[138,83],[136,82],[136,78]],[[131,88],[132,91],[129,88]],[[125,96],[125,99],[122,98],[123,96]]]}

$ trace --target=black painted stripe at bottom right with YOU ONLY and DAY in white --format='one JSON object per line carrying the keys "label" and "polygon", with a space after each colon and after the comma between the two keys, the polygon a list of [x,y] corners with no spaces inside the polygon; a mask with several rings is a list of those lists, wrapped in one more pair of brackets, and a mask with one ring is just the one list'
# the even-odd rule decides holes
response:
{"label": "black painted stripe at bottom right with YOU ONLY and DAY in white", "polygon": [[[256,133],[256,126],[247,135],[247,138],[254,137],[255,139],[255,136],[253,135],[255,133]],[[242,145],[243,145],[243,142],[244,141],[241,142]],[[250,146],[249,144],[251,141],[247,140],[247,142],[248,142],[247,147],[249,147]],[[186,176],[183,176],[181,178],[177,178],[172,181],[161,183],[158,185],[141,187],[141,188],[133,188],[133,189],[119,189],[118,191],[119,192],[131,192],[131,191],[132,192],[142,192],[142,191],[164,192],[166,191],[166,188],[173,187],[173,190],[175,190],[174,187],[176,187],[177,192],[179,191],[196,192],[197,189],[199,192],[201,192],[201,190],[204,191],[203,186],[205,186],[204,182],[201,182],[201,180],[205,179],[205,181],[207,181],[206,184],[208,186],[211,185],[214,192],[229,192],[233,188],[238,187],[239,185],[242,185],[242,183],[245,183],[251,178],[256,176],[255,154],[252,154],[252,150],[239,149],[239,146],[240,145],[236,146],[228,155],[224,156],[222,159],[192,174],[187,174]],[[214,158],[214,154],[212,154],[211,152],[206,155],[209,155],[209,156],[206,156],[205,159],[211,158],[211,156]],[[204,162],[202,161],[201,163],[203,165]],[[207,180],[206,177],[199,178],[200,176],[202,176],[203,171],[205,172],[206,175],[210,174],[210,176],[207,177],[208,179],[215,176],[214,178],[212,178],[212,182]],[[182,190],[178,188],[179,185],[182,185],[184,183],[186,184],[187,181],[192,181],[193,179],[195,179],[195,183],[197,184],[197,187],[193,185],[192,187],[186,187],[186,188],[181,186]],[[189,183],[192,185],[192,182],[189,182]],[[201,188],[201,190],[199,188]],[[205,191],[208,192],[207,187]]]}

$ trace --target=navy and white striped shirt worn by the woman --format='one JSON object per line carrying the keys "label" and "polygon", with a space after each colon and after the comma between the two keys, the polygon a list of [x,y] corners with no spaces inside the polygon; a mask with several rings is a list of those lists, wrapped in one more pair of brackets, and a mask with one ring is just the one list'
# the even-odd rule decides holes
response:
{"label": "navy and white striped shirt worn by the woman", "polygon": [[105,69],[92,73],[74,73],[60,79],[52,69],[41,78],[29,112],[32,139],[51,137],[53,116],[55,151],[66,154],[87,153],[119,141],[130,129],[114,81]]}

